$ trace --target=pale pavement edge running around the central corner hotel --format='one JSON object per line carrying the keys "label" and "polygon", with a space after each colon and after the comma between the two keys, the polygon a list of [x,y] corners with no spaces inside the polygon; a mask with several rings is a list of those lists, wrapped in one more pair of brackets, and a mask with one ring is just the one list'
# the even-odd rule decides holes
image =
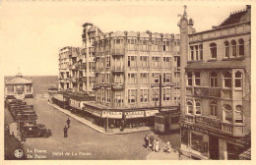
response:
{"label": "pale pavement edge running around the central corner hotel", "polygon": [[54,105],[54,104],[51,104],[51,103],[47,103],[48,105],[52,106],[53,108],[61,111],[62,113],[66,114],[66,115],[69,115],[70,117],[76,119],[77,121],[91,127],[92,129],[96,130],[98,133],[101,133],[101,134],[104,134],[104,135],[107,135],[107,136],[111,136],[111,135],[123,135],[123,134],[130,134],[130,133],[138,133],[138,132],[146,132],[146,131],[150,131],[152,130],[150,127],[149,128],[146,128],[145,130],[141,130],[141,131],[131,131],[131,132],[120,132],[120,133],[105,133],[101,130],[101,128],[97,128],[96,125],[92,124],[91,122],[87,121],[86,119],[84,118],[81,118],[81,117],[78,117],[74,114],[72,114],[71,112],[69,112],[68,110],[66,109],[63,109],[63,108],[60,108],[59,106],[57,105]]}

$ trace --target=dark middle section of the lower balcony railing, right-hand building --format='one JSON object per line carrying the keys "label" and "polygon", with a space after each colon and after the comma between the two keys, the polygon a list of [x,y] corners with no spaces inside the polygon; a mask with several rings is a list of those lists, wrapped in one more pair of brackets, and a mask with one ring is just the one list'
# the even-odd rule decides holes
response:
{"label": "dark middle section of the lower balcony railing, right-hand building", "polygon": [[216,129],[222,129],[221,120],[212,119],[203,116],[195,116],[195,123],[200,125],[209,126]]}

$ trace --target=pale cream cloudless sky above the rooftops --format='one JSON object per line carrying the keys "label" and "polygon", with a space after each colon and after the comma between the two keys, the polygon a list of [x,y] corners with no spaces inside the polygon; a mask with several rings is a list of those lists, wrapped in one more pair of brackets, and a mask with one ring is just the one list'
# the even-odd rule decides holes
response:
{"label": "pale cream cloudless sky above the rooftops", "polygon": [[[4,76],[58,75],[58,49],[82,47],[82,25],[93,23],[103,32],[178,33],[182,3],[95,3],[24,1],[0,3],[0,65]],[[219,26],[245,4],[188,3],[187,14],[197,31]]]}

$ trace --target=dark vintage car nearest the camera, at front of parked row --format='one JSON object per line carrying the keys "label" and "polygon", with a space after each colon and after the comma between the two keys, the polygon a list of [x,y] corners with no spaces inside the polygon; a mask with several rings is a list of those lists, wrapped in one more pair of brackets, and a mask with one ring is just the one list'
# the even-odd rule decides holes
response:
{"label": "dark vintage car nearest the camera, at front of parked row", "polygon": [[26,138],[48,138],[52,135],[51,130],[42,124],[24,125],[21,127],[21,131],[25,134]]}

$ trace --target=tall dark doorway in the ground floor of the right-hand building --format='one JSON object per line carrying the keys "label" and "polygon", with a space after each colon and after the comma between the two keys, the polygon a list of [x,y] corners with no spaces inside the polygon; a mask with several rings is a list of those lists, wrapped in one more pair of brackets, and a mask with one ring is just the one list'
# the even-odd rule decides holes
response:
{"label": "tall dark doorway in the ground floor of the right-hand building", "polygon": [[210,159],[219,160],[219,138],[209,136]]}

